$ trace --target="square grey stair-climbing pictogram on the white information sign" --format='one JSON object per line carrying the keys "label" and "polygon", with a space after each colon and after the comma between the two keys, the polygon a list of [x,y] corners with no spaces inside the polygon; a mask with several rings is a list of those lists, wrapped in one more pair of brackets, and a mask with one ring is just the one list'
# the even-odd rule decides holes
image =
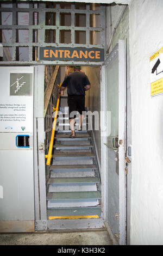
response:
{"label": "square grey stair-climbing pictogram on the white information sign", "polygon": [[10,73],[10,96],[31,96],[32,74]]}

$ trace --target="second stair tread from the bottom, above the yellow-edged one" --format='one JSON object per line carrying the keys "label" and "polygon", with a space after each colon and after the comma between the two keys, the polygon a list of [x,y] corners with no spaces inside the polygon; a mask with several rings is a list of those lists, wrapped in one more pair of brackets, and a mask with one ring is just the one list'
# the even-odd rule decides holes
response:
{"label": "second stair tread from the bottom, above the yellow-edged one", "polygon": [[47,200],[101,199],[99,191],[48,192]]}

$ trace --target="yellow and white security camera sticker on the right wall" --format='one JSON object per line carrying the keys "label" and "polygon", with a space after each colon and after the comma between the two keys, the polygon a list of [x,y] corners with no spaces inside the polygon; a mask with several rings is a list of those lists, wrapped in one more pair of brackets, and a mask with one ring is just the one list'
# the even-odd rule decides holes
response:
{"label": "yellow and white security camera sticker on the right wall", "polygon": [[163,47],[150,57],[151,96],[163,94]]}

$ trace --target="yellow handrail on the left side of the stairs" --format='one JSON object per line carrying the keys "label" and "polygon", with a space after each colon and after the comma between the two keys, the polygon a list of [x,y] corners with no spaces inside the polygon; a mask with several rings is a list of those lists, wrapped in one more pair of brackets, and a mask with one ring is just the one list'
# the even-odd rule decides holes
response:
{"label": "yellow handrail on the left side of the stairs", "polygon": [[[60,86],[58,84],[58,87],[61,87],[61,83]],[[52,134],[51,134],[51,141],[49,144],[49,151],[48,151],[48,155],[45,155],[45,158],[47,158],[47,166],[49,166],[49,164],[51,163],[51,158],[52,158],[52,149],[53,149],[53,142],[54,142],[54,134],[55,134],[55,126],[57,123],[57,114],[58,114],[58,108],[59,108],[59,100],[60,100],[60,94],[58,94],[58,99],[57,99],[57,106],[56,108],[53,108],[55,110],[55,115],[54,115],[54,121],[53,121],[53,128],[52,128]]]}

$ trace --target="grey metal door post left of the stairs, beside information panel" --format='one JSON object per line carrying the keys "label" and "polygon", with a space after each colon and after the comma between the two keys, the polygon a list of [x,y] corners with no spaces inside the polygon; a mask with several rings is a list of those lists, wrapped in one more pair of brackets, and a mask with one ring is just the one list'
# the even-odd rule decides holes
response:
{"label": "grey metal door post left of the stairs, beside information panel", "polygon": [[47,229],[45,132],[44,132],[44,65],[34,66],[34,194],[35,231]]}

